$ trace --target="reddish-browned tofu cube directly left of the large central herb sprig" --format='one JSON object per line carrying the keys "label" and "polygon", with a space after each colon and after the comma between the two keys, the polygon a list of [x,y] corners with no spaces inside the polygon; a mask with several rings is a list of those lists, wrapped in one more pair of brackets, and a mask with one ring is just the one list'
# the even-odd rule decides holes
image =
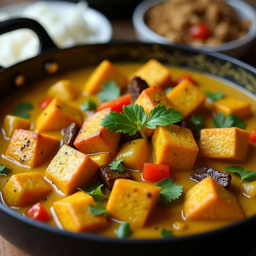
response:
{"label": "reddish-browned tofu cube directly left of the large central herb sprig", "polygon": [[108,152],[113,156],[116,155],[121,133],[110,132],[100,125],[101,119],[111,111],[111,108],[105,108],[84,120],[74,142],[79,151],[84,154]]}

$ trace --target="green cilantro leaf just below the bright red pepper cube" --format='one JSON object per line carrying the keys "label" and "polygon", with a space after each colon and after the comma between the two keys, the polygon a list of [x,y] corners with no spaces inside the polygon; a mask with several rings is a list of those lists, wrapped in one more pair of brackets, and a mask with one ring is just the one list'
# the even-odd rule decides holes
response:
{"label": "green cilantro leaf just below the bright red pepper cube", "polygon": [[163,180],[156,182],[155,186],[161,188],[158,204],[163,206],[167,206],[168,202],[172,202],[172,200],[179,198],[183,192],[183,186],[176,182],[172,183],[171,178],[164,178]]}

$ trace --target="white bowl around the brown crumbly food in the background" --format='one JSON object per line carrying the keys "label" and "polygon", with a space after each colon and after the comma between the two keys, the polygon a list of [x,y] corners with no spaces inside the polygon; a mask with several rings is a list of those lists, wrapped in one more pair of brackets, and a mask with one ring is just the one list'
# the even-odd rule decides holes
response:
{"label": "white bowl around the brown crumbly food in the background", "polygon": [[[132,22],[137,38],[141,42],[159,43],[159,44],[175,44],[170,42],[166,37],[160,36],[151,30],[144,21],[144,15],[151,7],[156,4],[164,2],[163,0],[145,0],[141,2],[134,10],[132,15]],[[240,57],[247,52],[256,38],[256,11],[250,5],[242,0],[227,0],[227,4],[232,6],[236,11],[238,17],[243,19],[251,19],[252,25],[249,32],[234,41],[219,45],[192,45],[186,44],[188,47],[200,49],[203,51],[217,51],[222,52],[233,57]]]}

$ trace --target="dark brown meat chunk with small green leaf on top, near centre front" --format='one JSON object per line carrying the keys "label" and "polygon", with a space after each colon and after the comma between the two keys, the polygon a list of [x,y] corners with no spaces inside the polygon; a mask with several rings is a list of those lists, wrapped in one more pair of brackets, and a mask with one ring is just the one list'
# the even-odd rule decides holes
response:
{"label": "dark brown meat chunk with small green leaf on top, near centre front", "polygon": [[109,164],[103,164],[100,166],[98,171],[98,178],[104,186],[111,191],[114,185],[115,180],[117,179],[128,179],[134,180],[132,174],[128,171],[117,172],[110,170]]}

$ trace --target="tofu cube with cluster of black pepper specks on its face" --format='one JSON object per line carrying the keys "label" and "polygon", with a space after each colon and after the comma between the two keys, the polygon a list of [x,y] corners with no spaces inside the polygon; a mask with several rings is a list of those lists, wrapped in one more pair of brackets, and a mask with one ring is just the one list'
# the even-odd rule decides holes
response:
{"label": "tofu cube with cluster of black pepper specks on its face", "polygon": [[21,164],[37,167],[57,152],[59,147],[60,140],[55,137],[19,129],[14,131],[5,156]]}

